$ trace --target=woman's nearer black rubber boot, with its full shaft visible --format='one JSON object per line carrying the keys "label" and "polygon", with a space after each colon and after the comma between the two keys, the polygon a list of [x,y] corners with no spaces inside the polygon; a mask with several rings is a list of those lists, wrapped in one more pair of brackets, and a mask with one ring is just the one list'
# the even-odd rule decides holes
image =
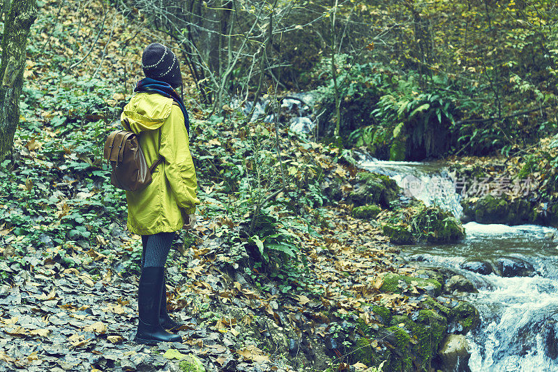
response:
{"label": "woman's nearer black rubber boot, with its full shaft visible", "polygon": [[159,323],[161,295],[163,292],[163,267],[144,267],[137,291],[140,319],[137,323],[135,342],[153,345],[160,342],[182,341],[181,336],[169,334]]}

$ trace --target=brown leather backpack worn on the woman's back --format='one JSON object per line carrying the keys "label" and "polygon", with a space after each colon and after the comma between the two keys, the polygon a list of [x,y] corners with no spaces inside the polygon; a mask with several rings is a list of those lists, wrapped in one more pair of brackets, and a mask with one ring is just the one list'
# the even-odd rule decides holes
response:
{"label": "brown leather backpack worn on the woman's back", "polygon": [[164,157],[159,156],[148,167],[137,134],[112,131],[105,142],[105,159],[112,167],[110,183],[113,186],[126,191],[138,191],[151,184],[151,173]]}

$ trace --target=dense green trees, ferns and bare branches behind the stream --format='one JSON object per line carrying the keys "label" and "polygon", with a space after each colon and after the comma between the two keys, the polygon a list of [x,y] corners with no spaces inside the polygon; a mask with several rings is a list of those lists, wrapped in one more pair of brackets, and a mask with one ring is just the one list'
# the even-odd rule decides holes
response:
{"label": "dense green trees, ferns and bare branches behind the stream", "polygon": [[508,154],[556,121],[553,1],[117,5],[149,9],[214,112],[231,94],[317,89],[318,134],[380,158]]}

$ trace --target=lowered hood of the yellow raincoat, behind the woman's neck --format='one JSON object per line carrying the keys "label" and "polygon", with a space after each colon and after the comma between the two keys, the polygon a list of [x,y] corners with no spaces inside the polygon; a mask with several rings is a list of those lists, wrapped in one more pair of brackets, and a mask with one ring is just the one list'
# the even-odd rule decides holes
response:
{"label": "lowered hood of the yellow raincoat, behind the woman's neck", "polygon": [[[165,123],[172,110],[172,98],[156,93],[138,93],[124,106],[121,122],[127,131],[153,131]],[[129,128],[124,119],[127,118]]]}

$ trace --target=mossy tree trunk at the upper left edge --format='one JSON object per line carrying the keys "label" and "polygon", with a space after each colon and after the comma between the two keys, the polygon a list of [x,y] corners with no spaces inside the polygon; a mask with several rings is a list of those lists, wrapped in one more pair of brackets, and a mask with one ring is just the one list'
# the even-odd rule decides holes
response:
{"label": "mossy tree trunk at the upper left edge", "polygon": [[0,161],[10,156],[13,135],[20,122],[25,45],[36,16],[36,0],[13,0],[4,22],[0,62]]}

